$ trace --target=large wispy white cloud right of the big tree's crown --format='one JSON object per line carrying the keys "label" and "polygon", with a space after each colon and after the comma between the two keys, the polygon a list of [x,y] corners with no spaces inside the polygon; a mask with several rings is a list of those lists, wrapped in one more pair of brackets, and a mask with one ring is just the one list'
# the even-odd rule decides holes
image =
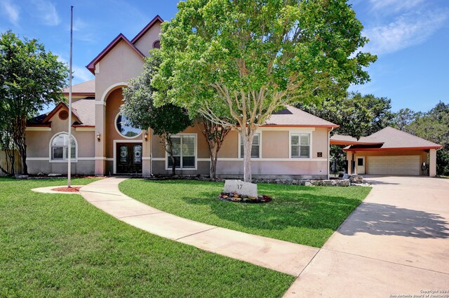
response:
{"label": "large wispy white cloud right of the big tree's crown", "polygon": [[370,42],[363,50],[382,55],[423,43],[444,25],[448,17],[446,12],[430,11],[400,15],[387,25],[364,30],[363,35]]}

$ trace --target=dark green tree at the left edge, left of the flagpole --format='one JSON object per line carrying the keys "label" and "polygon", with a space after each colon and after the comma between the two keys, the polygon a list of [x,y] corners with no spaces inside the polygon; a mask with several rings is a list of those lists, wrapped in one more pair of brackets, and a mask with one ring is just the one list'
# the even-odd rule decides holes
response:
{"label": "dark green tree at the left edge, left of the flagpole", "polygon": [[27,174],[26,123],[48,104],[64,100],[68,70],[58,56],[36,39],[21,40],[8,31],[0,36],[0,129],[11,137]]}

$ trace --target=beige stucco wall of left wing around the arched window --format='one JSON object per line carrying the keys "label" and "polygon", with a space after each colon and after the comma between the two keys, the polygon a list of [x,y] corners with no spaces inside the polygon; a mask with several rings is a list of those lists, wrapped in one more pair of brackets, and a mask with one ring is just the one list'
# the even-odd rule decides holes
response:
{"label": "beige stucco wall of left wing around the arched window", "polygon": [[[60,109],[67,110],[65,107]],[[67,163],[51,163],[50,162],[50,142],[57,133],[67,132],[69,122],[61,120],[59,113],[55,114],[51,121],[51,130],[36,131],[27,130],[27,165],[30,174],[37,174],[38,172],[50,173],[57,172],[60,174],[67,174]],[[33,128],[29,128],[33,129]],[[78,144],[77,158],[85,158],[88,160],[78,160],[72,163],[72,173],[79,174],[93,174],[94,156],[95,156],[95,132],[94,131],[80,131],[72,128],[72,135]],[[39,160],[36,160],[39,159]],[[45,160],[44,160],[45,159]]]}

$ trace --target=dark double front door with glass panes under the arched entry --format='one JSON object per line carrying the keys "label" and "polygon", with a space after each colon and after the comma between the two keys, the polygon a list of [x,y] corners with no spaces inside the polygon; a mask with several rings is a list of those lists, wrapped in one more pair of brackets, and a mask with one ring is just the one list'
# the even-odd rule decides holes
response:
{"label": "dark double front door with glass panes under the arched entry", "polygon": [[117,144],[116,163],[116,174],[142,174],[142,144]]}

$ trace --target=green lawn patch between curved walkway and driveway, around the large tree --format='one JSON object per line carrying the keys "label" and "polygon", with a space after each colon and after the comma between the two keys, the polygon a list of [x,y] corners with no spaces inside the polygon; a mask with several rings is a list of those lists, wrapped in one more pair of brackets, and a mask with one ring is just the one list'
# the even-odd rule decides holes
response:
{"label": "green lawn patch between curved walkway and driveway, around the large tree", "polygon": [[119,188],[143,203],[197,222],[321,248],[370,187],[258,184],[271,203],[220,201],[222,183],[125,180]]}

